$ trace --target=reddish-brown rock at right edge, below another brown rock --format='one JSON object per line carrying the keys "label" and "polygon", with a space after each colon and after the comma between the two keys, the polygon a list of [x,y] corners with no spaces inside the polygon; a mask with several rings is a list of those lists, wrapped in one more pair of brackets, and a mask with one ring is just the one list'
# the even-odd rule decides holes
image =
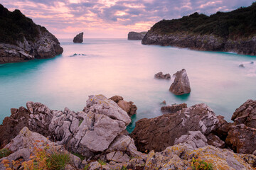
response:
{"label": "reddish-brown rock at right edge, below another brown rock", "polygon": [[226,144],[237,153],[252,154],[256,149],[256,129],[244,124],[233,125],[228,131]]}

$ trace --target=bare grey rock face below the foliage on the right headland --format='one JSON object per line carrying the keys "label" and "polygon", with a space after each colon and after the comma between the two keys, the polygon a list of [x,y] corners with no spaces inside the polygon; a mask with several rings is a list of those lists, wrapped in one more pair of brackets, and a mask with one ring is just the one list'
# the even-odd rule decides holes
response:
{"label": "bare grey rock face below the foliage on the right headland", "polygon": [[143,45],[162,45],[201,51],[235,52],[240,55],[256,55],[256,36],[231,40],[216,35],[195,33],[170,33],[160,35],[149,30],[142,39]]}

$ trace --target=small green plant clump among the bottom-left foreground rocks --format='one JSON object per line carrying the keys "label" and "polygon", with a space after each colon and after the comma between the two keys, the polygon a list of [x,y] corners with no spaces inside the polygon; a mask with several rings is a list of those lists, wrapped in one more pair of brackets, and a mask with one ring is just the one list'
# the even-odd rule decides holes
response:
{"label": "small green plant clump among the bottom-left foreground rocks", "polygon": [[65,153],[53,153],[46,162],[49,170],[63,170],[65,165],[70,162],[70,156]]}

